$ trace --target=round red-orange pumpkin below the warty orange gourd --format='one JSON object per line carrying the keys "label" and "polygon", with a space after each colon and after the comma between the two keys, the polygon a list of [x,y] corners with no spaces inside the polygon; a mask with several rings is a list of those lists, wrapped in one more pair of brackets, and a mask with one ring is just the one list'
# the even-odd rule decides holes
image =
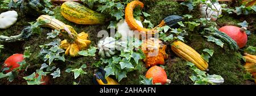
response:
{"label": "round red-orange pumpkin below the warty orange gourd", "polygon": [[167,79],[166,71],[164,71],[164,69],[159,66],[153,66],[148,69],[145,77],[152,78],[153,84],[161,83],[162,85],[164,85],[171,83],[171,80]]}

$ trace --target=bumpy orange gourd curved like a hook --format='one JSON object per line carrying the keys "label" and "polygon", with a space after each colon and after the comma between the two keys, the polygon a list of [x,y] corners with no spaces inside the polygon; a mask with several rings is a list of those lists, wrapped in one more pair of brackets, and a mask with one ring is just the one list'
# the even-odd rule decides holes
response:
{"label": "bumpy orange gourd curved like a hook", "polygon": [[146,29],[143,27],[140,27],[133,17],[133,10],[135,7],[140,6],[141,8],[144,7],[144,4],[141,1],[132,1],[127,4],[125,8],[125,20],[126,23],[129,25],[129,27],[133,30],[138,30],[139,32],[145,32],[146,34],[155,34],[156,32],[154,30]]}

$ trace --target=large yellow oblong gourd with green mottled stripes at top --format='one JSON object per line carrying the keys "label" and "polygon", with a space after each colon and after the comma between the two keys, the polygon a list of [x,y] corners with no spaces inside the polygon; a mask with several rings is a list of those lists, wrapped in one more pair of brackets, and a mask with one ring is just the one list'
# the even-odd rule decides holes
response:
{"label": "large yellow oblong gourd with green mottled stripes at top", "polygon": [[103,24],[106,19],[104,14],[90,10],[73,1],[64,2],[61,5],[60,12],[65,19],[76,24]]}

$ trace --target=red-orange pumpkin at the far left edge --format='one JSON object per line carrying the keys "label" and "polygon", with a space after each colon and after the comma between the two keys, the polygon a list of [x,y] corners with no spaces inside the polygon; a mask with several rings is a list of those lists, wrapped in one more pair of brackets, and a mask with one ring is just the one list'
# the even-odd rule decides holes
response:
{"label": "red-orange pumpkin at the far left edge", "polygon": [[8,73],[13,71],[14,68],[18,68],[19,67],[18,63],[22,62],[23,60],[24,60],[23,54],[14,54],[9,56],[9,58],[5,60],[5,63],[3,63],[3,68],[9,68],[5,72]]}

